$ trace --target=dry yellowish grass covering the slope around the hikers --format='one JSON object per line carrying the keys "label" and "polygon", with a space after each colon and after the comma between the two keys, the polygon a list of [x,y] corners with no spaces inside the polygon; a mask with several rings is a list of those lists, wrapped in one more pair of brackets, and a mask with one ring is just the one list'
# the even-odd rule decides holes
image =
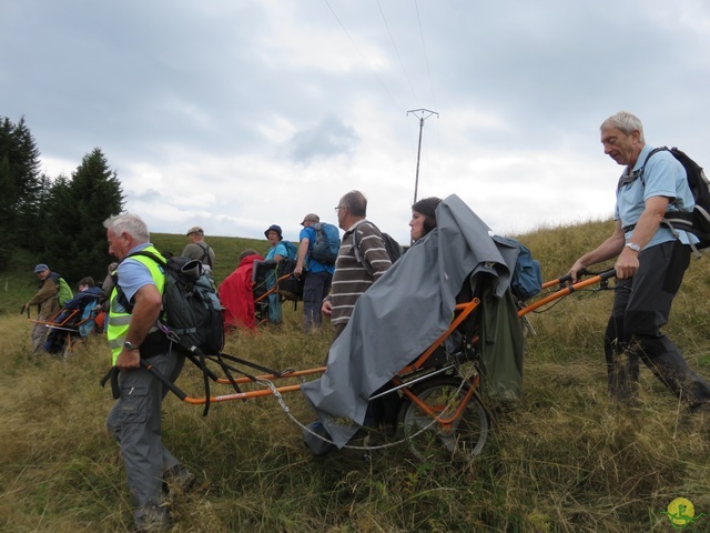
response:
{"label": "dry yellowish grass covering the slope around the hikers", "polygon": [[[556,278],[609,232],[608,222],[589,222],[518,238]],[[163,250],[184,243],[162,238],[154,235]],[[210,243],[221,262],[252,245]],[[708,379],[709,280],[710,258],[693,261],[667,328]],[[663,512],[677,497],[689,499],[696,515],[710,514],[710,432],[646,370],[638,408],[606,398],[601,335],[610,302],[610,291],[580,292],[530,316],[537,335],[526,340],[524,395],[496,419],[470,464],[422,462],[405,445],[314,459],[290,419],[313,420],[298,393],[284,394],[290,415],[270,396],[214,404],[206,418],[202,406],[170,396],[165,443],[200,480],[175,503],[172,531],[667,532]],[[234,335],[225,352],[276,369],[318,365],[328,332],[304,338],[300,312],[286,305],[283,328]],[[98,385],[109,366],[105,342],[91,339],[67,361],[33,359],[29,325],[0,316],[0,530],[126,531],[122,462],[104,429],[112,399]],[[203,393],[194,368],[179,384]],[[710,516],[686,531],[710,531]]]}

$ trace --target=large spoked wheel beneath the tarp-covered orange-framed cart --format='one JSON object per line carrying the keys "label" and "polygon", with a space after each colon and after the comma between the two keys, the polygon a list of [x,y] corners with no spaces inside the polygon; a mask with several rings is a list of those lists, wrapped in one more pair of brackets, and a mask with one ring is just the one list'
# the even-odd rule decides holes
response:
{"label": "large spoked wheel beneath the tarp-covered orange-framed cart", "polygon": [[[412,388],[413,392],[442,419],[454,415],[469,384],[460,378],[433,378]],[[425,431],[422,431],[426,428]],[[474,393],[460,416],[448,424],[435,422],[406,395],[397,418],[397,429],[422,461],[470,461],[480,453],[488,438],[488,415]]]}

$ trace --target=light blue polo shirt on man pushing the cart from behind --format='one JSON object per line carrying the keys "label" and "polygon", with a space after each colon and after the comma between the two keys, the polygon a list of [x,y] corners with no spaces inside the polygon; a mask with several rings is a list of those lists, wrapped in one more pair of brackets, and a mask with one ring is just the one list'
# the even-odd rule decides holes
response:
{"label": "light blue polo shirt on man pushing the cart from behind", "polygon": [[[633,171],[640,170],[653,147],[643,147],[636,161]],[[621,227],[633,225],[646,209],[646,200],[652,197],[667,197],[669,199],[668,211],[691,212],[696,207],[686,178],[686,169],[667,150],[657,152],[648,160],[643,171],[643,179],[636,179],[627,183],[617,191],[617,205],[613,220],[620,220]],[[631,237],[632,231],[627,231],[626,240]],[[684,231],[678,231],[679,239],[683,244],[693,244],[698,239]],[[646,248],[655,247],[662,242],[676,239],[673,232],[661,225],[653,234]]]}

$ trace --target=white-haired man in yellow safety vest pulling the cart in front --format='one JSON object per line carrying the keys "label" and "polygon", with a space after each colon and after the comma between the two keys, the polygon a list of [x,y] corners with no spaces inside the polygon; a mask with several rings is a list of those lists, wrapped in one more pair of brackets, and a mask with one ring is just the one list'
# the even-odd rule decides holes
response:
{"label": "white-haired man in yellow safety vest pulling the cart in front", "polygon": [[118,282],[111,292],[106,336],[113,364],[120,371],[120,396],[106,428],[121,446],[128,485],[132,493],[135,531],[164,531],[169,526],[166,492],[184,492],[195,476],[163,446],[161,404],[168,389],[141,366],[141,359],[175,381],[184,355],[156,329],[162,313],[165,274],[144,255],[153,248],[143,220],[131,213],[106,219],[109,253],[119,260]]}

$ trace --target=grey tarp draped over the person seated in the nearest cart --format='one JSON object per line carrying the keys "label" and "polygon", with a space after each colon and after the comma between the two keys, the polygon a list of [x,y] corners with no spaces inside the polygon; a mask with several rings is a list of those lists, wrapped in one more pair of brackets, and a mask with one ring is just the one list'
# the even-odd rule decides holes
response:
{"label": "grey tarp draped over the person seated in the nearest cart", "polygon": [[469,274],[493,274],[496,298],[508,290],[518,249],[494,241],[455,194],[436,218],[437,228],[358,299],[321,379],[301,386],[338,447],[365,421],[371,394],[447,330]]}

